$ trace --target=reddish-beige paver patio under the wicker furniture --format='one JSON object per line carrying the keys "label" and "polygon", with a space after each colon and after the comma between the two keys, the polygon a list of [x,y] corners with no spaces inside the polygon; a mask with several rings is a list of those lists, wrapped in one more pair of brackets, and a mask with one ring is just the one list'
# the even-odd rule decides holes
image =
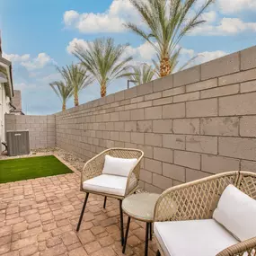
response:
{"label": "reddish-beige paver patio under the wicker furniture", "polygon": [[[0,255],[123,255],[119,204],[90,195],[79,233],[84,201],[76,173],[0,184]],[[127,220],[125,216],[124,220]],[[132,221],[126,255],[144,255],[145,224]],[[149,243],[149,255],[156,246]]]}

